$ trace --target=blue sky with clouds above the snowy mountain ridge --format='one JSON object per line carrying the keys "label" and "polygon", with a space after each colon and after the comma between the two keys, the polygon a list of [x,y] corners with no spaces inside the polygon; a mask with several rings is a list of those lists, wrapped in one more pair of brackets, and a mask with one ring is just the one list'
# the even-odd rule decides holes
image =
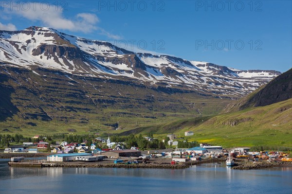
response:
{"label": "blue sky with clouds above the snowy mountain ridge", "polygon": [[130,51],[241,70],[292,68],[290,0],[47,2],[1,1],[0,29],[46,26]]}

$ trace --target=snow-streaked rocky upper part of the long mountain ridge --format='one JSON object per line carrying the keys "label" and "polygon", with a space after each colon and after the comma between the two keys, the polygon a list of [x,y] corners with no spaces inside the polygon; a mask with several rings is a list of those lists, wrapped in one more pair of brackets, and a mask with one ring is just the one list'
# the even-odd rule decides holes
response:
{"label": "snow-streaked rocky upper part of the long mountain ridge", "polygon": [[[54,69],[107,79],[137,80],[152,86],[187,88],[201,93],[242,96],[279,75],[279,71],[241,71],[169,55],[134,53],[98,40],[32,26],[0,31],[0,64]],[[41,76],[41,75],[40,75]]]}

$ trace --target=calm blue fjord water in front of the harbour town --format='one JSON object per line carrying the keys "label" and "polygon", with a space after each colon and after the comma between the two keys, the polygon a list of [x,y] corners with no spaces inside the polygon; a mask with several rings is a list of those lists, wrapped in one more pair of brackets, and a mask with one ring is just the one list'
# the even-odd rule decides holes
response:
{"label": "calm blue fjord water in front of the harbour town", "polygon": [[241,171],[218,163],[175,170],[13,168],[1,165],[0,193],[291,194],[292,167]]}

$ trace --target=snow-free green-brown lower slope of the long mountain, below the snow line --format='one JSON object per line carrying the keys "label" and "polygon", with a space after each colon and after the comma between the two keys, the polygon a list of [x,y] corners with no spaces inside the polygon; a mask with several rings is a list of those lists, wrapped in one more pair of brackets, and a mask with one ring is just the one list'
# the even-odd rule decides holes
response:
{"label": "snow-free green-brown lower slope of the long mountain, below the snow line", "polygon": [[139,81],[36,71],[43,76],[0,67],[0,78],[5,76],[0,80],[5,94],[0,98],[1,134],[116,133],[115,128],[123,132],[218,114],[231,102],[228,97],[141,85]]}

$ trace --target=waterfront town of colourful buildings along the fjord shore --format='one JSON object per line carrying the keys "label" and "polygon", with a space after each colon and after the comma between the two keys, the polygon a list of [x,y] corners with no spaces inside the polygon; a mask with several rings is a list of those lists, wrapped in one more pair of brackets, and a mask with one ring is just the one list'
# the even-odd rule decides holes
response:
{"label": "waterfront town of colourful buildings along the fjord shore", "polygon": [[[193,135],[191,131],[186,131],[184,134],[185,137]],[[53,145],[51,143],[55,141],[52,138],[50,138],[51,143],[49,143],[45,141],[48,139],[47,137],[36,135],[31,140],[38,140],[38,142],[22,142],[22,147],[7,147],[4,149],[4,154],[10,154],[10,166],[35,166],[35,163],[37,163],[37,166],[62,166],[66,164],[66,166],[75,167],[81,164],[82,166],[92,166],[93,162],[95,162],[94,164],[98,164],[99,167],[109,166],[109,163],[111,163],[119,165],[135,164],[136,167],[145,164],[148,166],[151,164],[164,164],[163,167],[165,168],[174,168],[176,165],[185,168],[188,165],[184,164],[192,164],[192,162],[225,161],[228,158],[232,159],[230,166],[240,166],[242,164],[256,165],[259,163],[263,164],[263,162],[268,164],[267,166],[271,166],[271,163],[282,164],[283,162],[290,163],[292,161],[290,153],[282,150],[255,151],[249,147],[226,149],[219,145],[210,145],[203,142],[199,144],[196,141],[180,141],[181,139],[176,137],[175,134],[168,134],[162,141],[153,138],[151,134],[149,136],[151,137],[142,137],[142,135],[135,137],[131,135],[129,137],[131,142],[129,138],[123,139],[115,136],[113,136],[115,141],[124,141],[112,142],[109,136],[107,140],[96,137],[92,142],[84,141],[77,143],[62,141],[59,144],[55,143]],[[65,139],[70,140],[72,138]],[[144,145],[144,147],[139,148],[137,147],[138,144]],[[35,157],[42,156],[46,157],[46,159],[26,162],[25,157],[33,157],[34,154]],[[229,165],[227,161],[226,165]]]}

